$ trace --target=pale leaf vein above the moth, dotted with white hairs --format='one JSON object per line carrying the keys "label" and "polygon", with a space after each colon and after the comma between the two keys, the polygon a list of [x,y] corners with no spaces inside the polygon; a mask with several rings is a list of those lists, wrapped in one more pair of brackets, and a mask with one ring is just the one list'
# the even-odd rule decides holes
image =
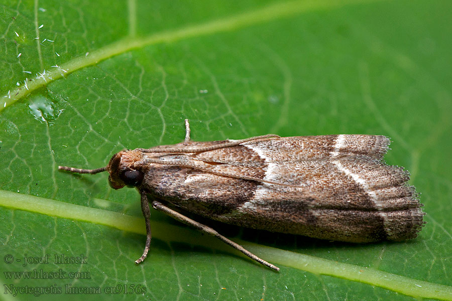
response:
{"label": "pale leaf vein above the moth, dotted with white hairs", "polygon": [[[43,73],[39,74],[37,73],[36,77],[34,78],[26,78],[24,84],[15,87],[13,90],[5,92],[3,97],[0,97],[0,112],[16,101],[26,97],[31,92],[46,86],[50,82],[67,76],[68,74],[76,70],[97,64],[100,61],[131,51],[133,49],[140,49],[145,46],[160,43],[171,43],[182,39],[200,37],[219,32],[233,31],[240,28],[250,27],[256,24],[270,22],[273,20],[290,18],[300,13],[309,11],[340,8],[351,4],[362,4],[375,1],[379,0],[297,0],[291,2],[282,2],[271,4],[257,10],[238,13],[233,16],[201,23],[198,25],[186,26],[176,30],[154,33],[146,37],[130,36],[105,45],[97,50],[91,51],[87,55],[75,57],[72,60],[62,64],[61,66],[53,67],[50,71],[43,71]],[[49,66],[47,68],[49,68]]]}

